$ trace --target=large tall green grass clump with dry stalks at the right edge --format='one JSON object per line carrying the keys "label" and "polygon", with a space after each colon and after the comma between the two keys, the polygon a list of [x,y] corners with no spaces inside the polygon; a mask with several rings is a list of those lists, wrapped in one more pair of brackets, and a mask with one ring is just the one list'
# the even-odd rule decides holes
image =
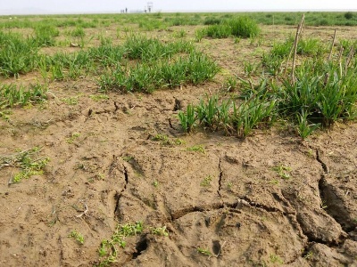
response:
{"label": "large tall green grass clump with dry stalks at the right edge", "polygon": [[[327,45],[303,38],[297,43],[294,55],[299,64],[289,73],[283,67],[290,67],[285,61],[293,52],[294,41],[289,37],[284,43],[274,44],[271,52],[262,58],[263,69],[275,76],[267,92],[277,103],[277,113],[293,121],[303,139],[316,129],[356,118],[355,43],[340,41],[336,58],[333,46],[327,54]],[[342,53],[343,50],[347,53]]]}

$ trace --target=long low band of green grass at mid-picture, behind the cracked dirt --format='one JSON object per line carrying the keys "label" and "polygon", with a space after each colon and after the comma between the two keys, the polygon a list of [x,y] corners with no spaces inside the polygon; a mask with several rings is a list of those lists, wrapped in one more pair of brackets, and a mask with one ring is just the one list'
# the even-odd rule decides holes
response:
{"label": "long low band of green grass at mid-picture, behind the cracked dirt", "polygon": [[217,64],[202,53],[191,52],[176,61],[143,62],[131,69],[117,68],[98,80],[101,92],[153,93],[162,87],[198,85],[211,80],[219,71]]}

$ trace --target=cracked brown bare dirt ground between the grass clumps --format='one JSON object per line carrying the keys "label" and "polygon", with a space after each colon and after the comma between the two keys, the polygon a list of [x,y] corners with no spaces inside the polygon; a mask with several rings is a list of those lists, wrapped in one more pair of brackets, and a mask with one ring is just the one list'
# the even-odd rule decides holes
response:
{"label": "cracked brown bare dirt ground between the grass clumps", "polygon": [[[265,27],[262,40],[286,32],[294,28]],[[306,34],[330,40],[333,28]],[[249,42],[197,45],[233,74],[267,49]],[[219,89],[220,77],[96,100],[95,82],[83,79],[51,84],[43,105],[13,109],[0,120],[0,155],[38,147],[50,162],[18,183],[17,169],[0,168],[0,266],[92,266],[101,241],[137,221],[144,231],[112,266],[357,266],[357,124],[304,142],[284,125],[244,141],[182,134],[179,109]],[[187,150],[195,145],[204,150]],[[150,231],[163,226],[169,237]]]}

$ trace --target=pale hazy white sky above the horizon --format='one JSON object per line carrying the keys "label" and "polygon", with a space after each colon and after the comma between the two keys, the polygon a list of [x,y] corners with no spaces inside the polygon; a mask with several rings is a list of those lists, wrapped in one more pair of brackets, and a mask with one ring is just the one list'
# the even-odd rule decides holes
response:
{"label": "pale hazy white sky above the horizon", "polygon": [[87,13],[144,10],[147,2],[153,12],[195,11],[357,11],[356,0],[0,0],[0,14]]}

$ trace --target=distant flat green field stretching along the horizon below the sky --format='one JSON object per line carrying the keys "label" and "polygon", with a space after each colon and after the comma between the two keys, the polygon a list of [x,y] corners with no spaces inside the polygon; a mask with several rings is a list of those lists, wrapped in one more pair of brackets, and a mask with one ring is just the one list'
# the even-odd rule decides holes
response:
{"label": "distant flat green field stretching along the horizon below the sky", "polygon": [[46,23],[54,27],[97,28],[112,24],[137,24],[145,30],[185,25],[212,25],[237,16],[248,16],[265,25],[295,25],[305,13],[309,26],[355,26],[357,12],[225,12],[2,16],[0,28],[34,28]]}

